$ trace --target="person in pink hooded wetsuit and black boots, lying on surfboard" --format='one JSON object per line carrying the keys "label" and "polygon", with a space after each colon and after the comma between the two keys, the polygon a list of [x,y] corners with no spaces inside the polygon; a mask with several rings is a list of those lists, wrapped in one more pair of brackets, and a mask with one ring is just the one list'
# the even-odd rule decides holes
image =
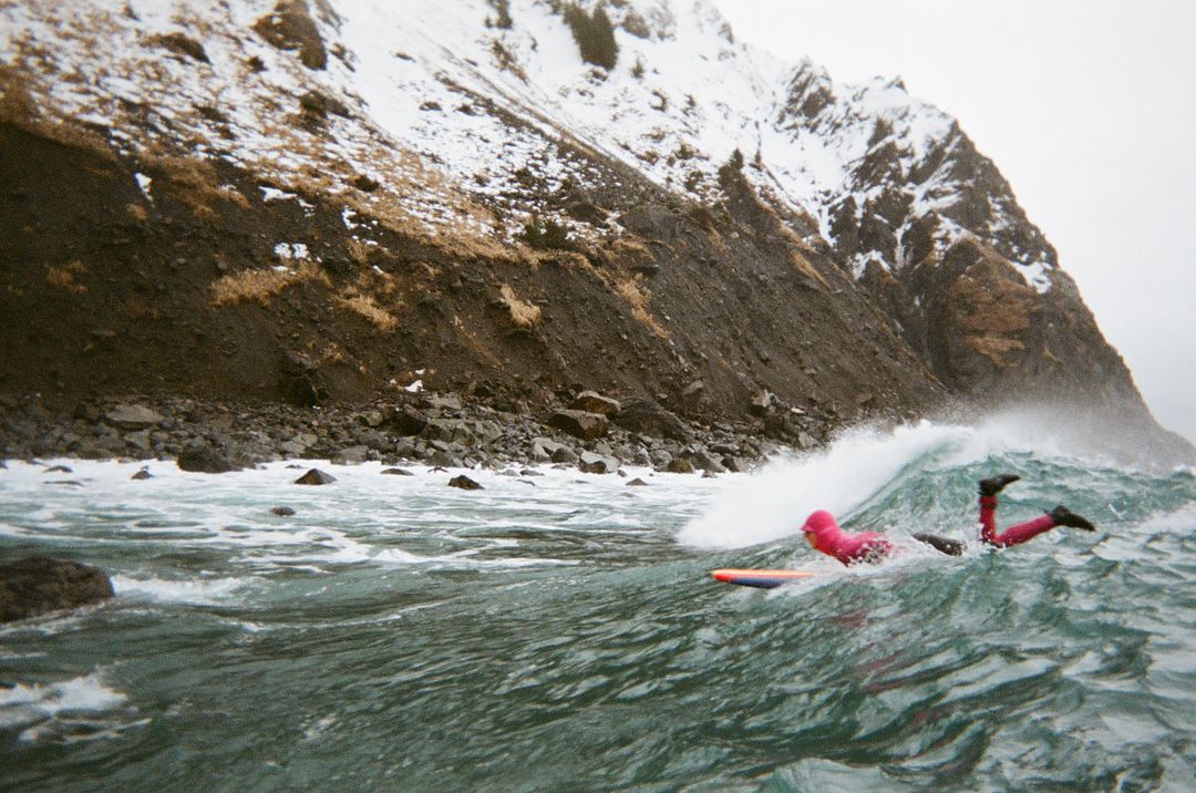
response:
{"label": "person in pink hooded wetsuit and black boots, lying on surfboard", "polygon": [[[1019,478],[1021,477],[1013,474],[1001,474],[980,481],[980,538],[986,545],[995,548],[1017,545],[1056,526],[1096,531],[1096,526],[1088,520],[1060,505],[1041,518],[1019,523],[1001,533],[996,533],[996,494]],[[801,526],[801,531],[806,532],[806,541],[811,548],[828,556],[834,556],[844,565],[879,562],[897,550],[892,542],[875,531],[843,531],[835,521],[834,516],[825,510],[818,510],[811,514],[805,525]],[[925,533],[917,533],[914,537],[951,556],[959,556],[964,551],[963,543],[946,537]]]}

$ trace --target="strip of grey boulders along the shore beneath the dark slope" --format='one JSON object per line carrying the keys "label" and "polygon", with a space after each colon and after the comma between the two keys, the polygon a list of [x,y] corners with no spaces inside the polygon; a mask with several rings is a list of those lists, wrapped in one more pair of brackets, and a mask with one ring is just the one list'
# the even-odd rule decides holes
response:
{"label": "strip of grey boulders along the shore beneath the dark slope", "polygon": [[[767,396],[767,395],[765,395]],[[220,472],[280,459],[499,469],[622,465],[716,475],[825,443],[824,420],[763,399],[750,422],[688,422],[653,401],[582,391],[541,410],[502,410],[456,394],[399,391],[364,405],[237,404],[183,397],[83,401],[0,397],[0,459],[175,459]]]}

